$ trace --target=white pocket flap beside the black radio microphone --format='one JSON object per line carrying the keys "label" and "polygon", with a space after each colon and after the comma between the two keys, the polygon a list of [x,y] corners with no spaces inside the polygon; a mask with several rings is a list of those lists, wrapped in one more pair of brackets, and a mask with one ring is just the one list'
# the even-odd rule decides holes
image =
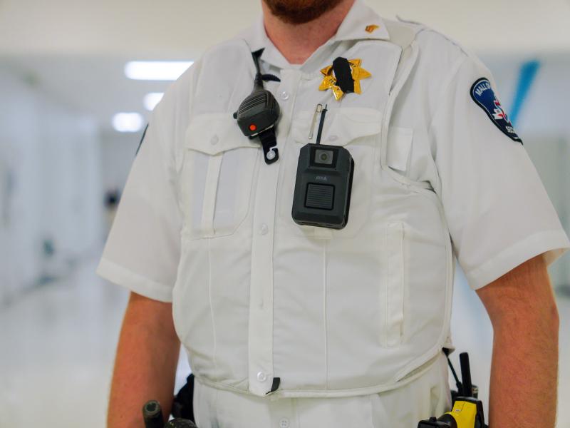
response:
{"label": "white pocket flap beside the black radio microphone", "polygon": [[211,113],[192,119],[186,129],[185,147],[216,155],[232,148],[259,148],[261,145],[244,136],[231,113]]}

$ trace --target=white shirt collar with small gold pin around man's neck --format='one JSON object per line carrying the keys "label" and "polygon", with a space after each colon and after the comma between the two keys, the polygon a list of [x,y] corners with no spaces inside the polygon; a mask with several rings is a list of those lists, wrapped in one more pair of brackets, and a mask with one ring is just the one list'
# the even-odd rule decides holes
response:
{"label": "white shirt collar with small gold pin around man's neck", "polygon": [[[239,38],[245,39],[252,52],[265,49],[261,58],[273,63],[279,68],[289,68],[289,63],[281,55],[278,49],[271,43],[265,32],[263,17],[260,16],[249,29],[239,34]],[[367,6],[363,0],[356,0],[345,19],[338,27],[336,34],[328,40],[327,44],[336,41],[355,40],[390,40],[390,34],[384,21],[376,12]]]}

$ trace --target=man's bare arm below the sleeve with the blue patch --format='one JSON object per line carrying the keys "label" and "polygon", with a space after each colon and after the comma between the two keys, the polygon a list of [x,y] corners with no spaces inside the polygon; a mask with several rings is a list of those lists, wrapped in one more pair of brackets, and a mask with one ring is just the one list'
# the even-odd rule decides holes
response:
{"label": "man's bare arm below the sleeve with the blue patch", "polygon": [[489,428],[554,428],[559,318],[541,255],[477,290],[493,325]]}

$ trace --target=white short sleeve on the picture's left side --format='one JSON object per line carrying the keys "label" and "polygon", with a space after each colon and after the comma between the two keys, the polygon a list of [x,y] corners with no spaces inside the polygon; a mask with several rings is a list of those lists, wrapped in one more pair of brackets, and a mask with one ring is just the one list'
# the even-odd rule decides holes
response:
{"label": "white short sleeve on the picture's left side", "polygon": [[[172,301],[180,259],[175,141],[188,114],[192,71],[165,93],[150,118],[128,175],[98,274],[140,295]],[[178,134],[178,135],[177,135]]]}

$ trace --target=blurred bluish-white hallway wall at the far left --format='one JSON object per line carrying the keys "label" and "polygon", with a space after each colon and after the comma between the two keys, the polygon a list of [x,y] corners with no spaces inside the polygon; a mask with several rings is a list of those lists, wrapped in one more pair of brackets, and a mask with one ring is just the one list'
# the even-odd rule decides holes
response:
{"label": "blurred bluish-white hallway wall at the far left", "polygon": [[5,67],[0,93],[1,304],[100,245],[103,198],[95,123]]}

